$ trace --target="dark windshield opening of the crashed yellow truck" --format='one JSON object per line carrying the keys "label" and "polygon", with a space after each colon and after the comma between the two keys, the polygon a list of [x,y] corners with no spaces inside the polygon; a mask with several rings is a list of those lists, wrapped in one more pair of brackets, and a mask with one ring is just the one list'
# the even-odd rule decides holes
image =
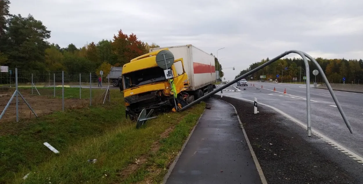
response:
{"label": "dark windshield opening of the crashed yellow truck", "polygon": [[122,76],[125,81],[125,89],[166,80],[164,69],[160,67],[138,70]]}

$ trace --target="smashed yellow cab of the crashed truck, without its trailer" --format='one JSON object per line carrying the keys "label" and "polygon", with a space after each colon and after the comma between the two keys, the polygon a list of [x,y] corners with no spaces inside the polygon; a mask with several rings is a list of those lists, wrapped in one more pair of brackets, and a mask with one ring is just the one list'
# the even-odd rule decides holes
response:
{"label": "smashed yellow cab of the crashed truck, without its trailer", "polygon": [[[170,110],[175,107],[174,93],[166,79],[164,69],[156,63],[156,55],[160,51],[144,54],[123,65],[119,87],[124,95],[126,117],[130,116],[131,119],[135,119],[142,109],[147,111],[150,109]],[[184,93],[184,95],[181,93],[189,88],[183,59],[176,59],[171,70],[176,93],[182,98],[189,97],[188,93]],[[179,108],[181,108],[180,104]]]}

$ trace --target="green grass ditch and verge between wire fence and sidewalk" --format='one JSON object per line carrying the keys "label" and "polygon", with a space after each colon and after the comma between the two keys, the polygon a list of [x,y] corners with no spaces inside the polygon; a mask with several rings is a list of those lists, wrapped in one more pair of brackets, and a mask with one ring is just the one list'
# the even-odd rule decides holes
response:
{"label": "green grass ditch and verge between wire fence and sidewalk", "polygon": [[[89,89],[82,89],[82,98],[89,98],[87,92]],[[79,97],[79,88],[65,88],[65,97],[74,96]],[[111,90],[111,99],[113,103],[108,105],[0,125],[0,183],[132,183],[135,179],[143,180],[152,176],[146,168],[165,168],[168,160],[174,159],[205,105],[199,104],[181,113],[162,114],[136,129],[134,122],[125,119],[122,93]],[[174,131],[160,141],[160,134],[171,126],[175,126]],[[160,150],[150,154],[152,143],[157,141],[160,141]],[[60,154],[54,154],[44,142]],[[149,161],[130,177],[120,177],[119,173],[141,155],[148,155]],[[97,162],[89,163],[88,159],[97,159]],[[28,178],[23,180],[29,172]]]}

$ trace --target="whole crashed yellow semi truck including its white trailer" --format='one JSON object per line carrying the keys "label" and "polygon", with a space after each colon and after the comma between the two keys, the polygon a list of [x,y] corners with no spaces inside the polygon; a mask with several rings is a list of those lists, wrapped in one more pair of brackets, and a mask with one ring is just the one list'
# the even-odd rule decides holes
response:
{"label": "whole crashed yellow semi truck including its white trailer", "polygon": [[[174,55],[171,78],[156,62],[164,50]],[[126,117],[136,120],[143,109],[175,112],[216,88],[215,58],[193,45],[152,48],[123,65],[118,80]]]}

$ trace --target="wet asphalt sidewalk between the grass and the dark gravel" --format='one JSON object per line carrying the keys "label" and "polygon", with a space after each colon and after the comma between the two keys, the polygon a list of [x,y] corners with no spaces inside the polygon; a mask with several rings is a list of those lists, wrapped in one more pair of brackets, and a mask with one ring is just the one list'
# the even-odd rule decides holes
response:
{"label": "wet asphalt sidewalk between the grass and the dark gravel", "polygon": [[167,184],[261,184],[233,106],[209,99]]}

